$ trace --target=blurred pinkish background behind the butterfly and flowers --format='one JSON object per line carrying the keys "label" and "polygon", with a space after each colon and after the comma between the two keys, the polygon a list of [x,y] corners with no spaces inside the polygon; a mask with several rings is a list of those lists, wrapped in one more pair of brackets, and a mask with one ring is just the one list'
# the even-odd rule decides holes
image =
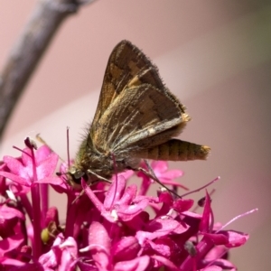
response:
{"label": "blurred pinkish background behind the butterfly and flowers", "polygon": [[[159,67],[188,107],[182,139],[210,145],[207,162],[171,164],[192,189],[213,187],[216,221],[258,212],[228,228],[248,232],[231,250],[239,270],[271,270],[271,5],[268,1],[96,1],[61,26],[26,87],[5,131],[3,154],[18,154],[26,135],[41,133],[66,158],[66,126],[75,154],[94,116],[107,58],[127,39]],[[0,1],[0,67],[36,1]],[[201,198],[204,192],[196,194]],[[51,195],[51,205],[60,198]],[[65,198],[62,199],[62,218]]]}

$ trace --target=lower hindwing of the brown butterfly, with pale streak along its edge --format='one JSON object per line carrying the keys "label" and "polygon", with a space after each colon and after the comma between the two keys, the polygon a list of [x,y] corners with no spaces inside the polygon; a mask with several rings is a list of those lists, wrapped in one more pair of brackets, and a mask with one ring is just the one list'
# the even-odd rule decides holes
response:
{"label": "lower hindwing of the brown butterfly, with pale streak along its edge", "polygon": [[[186,120],[171,96],[152,85],[142,84],[125,89],[111,103],[98,120],[93,143],[102,152],[114,154],[158,145],[178,135],[181,132],[178,126]],[[165,131],[169,133],[164,134]],[[163,135],[159,140],[154,137],[158,134]],[[154,140],[146,141],[146,138]]]}

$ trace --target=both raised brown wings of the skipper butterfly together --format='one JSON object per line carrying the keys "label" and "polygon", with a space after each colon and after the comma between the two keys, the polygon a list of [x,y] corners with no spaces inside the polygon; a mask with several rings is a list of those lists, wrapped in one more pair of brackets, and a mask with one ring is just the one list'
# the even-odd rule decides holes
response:
{"label": "both raised brown wings of the skipper butterfly together", "polygon": [[[139,141],[144,145],[146,137],[180,125],[184,118],[188,120],[182,104],[165,88],[154,64],[131,42],[119,42],[109,57],[90,128],[97,149],[117,152]],[[154,138],[155,145],[178,133],[165,134]]]}

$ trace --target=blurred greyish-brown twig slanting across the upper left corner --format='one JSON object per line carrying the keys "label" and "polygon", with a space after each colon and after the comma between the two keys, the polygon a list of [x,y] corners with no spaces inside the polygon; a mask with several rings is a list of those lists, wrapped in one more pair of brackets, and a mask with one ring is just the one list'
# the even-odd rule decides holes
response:
{"label": "blurred greyish-brown twig slanting across the upper left corner", "polygon": [[51,38],[70,14],[88,0],[40,0],[23,27],[0,74],[0,138],[8,118]]}

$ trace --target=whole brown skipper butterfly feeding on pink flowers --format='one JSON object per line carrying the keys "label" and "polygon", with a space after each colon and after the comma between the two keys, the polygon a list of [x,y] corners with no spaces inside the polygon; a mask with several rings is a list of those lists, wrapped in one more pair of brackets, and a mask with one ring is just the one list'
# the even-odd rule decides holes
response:
{"label": "whole brown skipper butterfly feeding on pink flowers", "polygon": [[95,117],[70,167],[70,182],[109,180],[114,173],[137,170],[142,159],[205,159],[210,147],[175,138],[189,120],[144,52],[119,42],[107,62]]}

